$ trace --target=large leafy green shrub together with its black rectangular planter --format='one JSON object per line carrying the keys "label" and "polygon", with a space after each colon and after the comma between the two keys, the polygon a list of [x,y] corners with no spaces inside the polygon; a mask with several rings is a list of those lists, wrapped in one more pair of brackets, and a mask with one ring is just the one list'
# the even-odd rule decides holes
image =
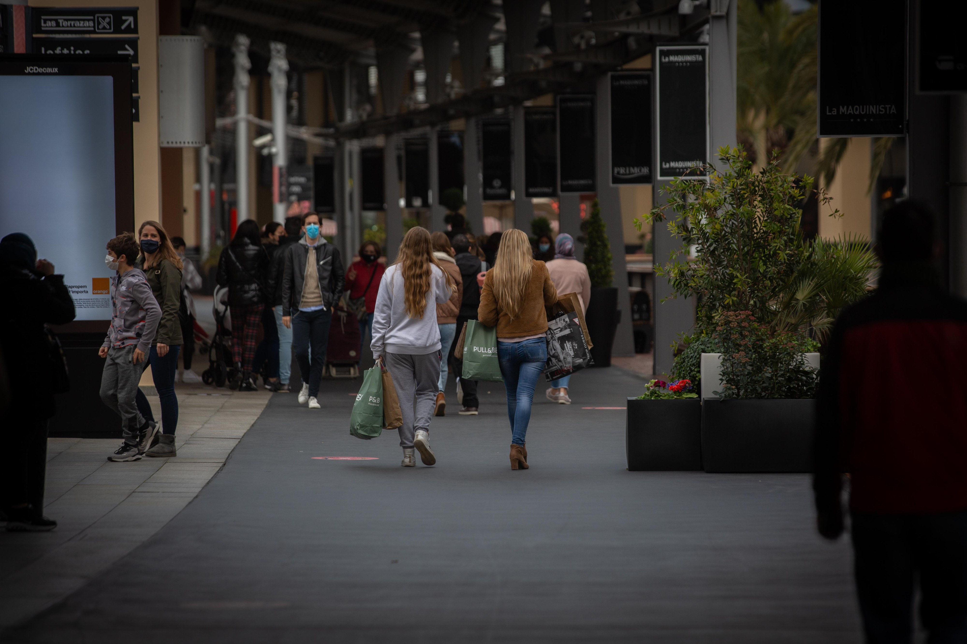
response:
{"label": "large leafy green shrub together with its black rectangular planter", "polygon": [[[681,238],[671,262],[657,266],[673,296],[697,301],[695,328],[676,358],[675,374],[721,354],[721,382],[702,378],[702,462],[706,471],[806,471],[815,351],[835,313],[863,297],[875,266],[857,238],[809,242],[800,233],[812,180],[783,174],[774,155],[756,172],[742,149],[719,150],[724,170],[708,181],[678,180],[667,188],[677,215],[669,231]],[[817,191],[819,202],[830,199]],[[841,216],[833,210],[831,216]],[[661,208],[635,221],[662,221]],[[716,357],[718,359],[718,357]]]}

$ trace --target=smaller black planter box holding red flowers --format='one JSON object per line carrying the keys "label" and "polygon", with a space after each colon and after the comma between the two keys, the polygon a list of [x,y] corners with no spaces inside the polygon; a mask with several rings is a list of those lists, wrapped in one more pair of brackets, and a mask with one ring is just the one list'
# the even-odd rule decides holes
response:
{"label": "smaller black planter box holding red flowers", "polygon": [[697,398],[629,398],[627,414],[625,447],[631,471],[702,469],[702,407]]}

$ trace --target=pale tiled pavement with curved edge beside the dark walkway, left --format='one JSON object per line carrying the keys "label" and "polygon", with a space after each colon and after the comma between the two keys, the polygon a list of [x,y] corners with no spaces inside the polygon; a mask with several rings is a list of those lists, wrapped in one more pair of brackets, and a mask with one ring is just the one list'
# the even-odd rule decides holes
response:
{"label": "pale tiled pavement with curved edge beside the dark walkway, left", "polygon": [[[177,515],[219,471],[269,401],[178,385],[172,459],[107,462],[120,439],[51,438],[44,514],[48,533],[0,531],[0,630],[66,597]],[[148,398],[161,417],[158,398]]]}

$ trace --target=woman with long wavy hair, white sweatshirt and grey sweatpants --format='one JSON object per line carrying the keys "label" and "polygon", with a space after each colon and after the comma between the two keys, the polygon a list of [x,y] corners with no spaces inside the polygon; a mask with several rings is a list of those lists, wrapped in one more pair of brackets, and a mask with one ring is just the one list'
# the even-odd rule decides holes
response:
{"label": "woman with long wavy hair, white sweatshirt and grey sweatpants", "polygon": [[429,231],[411,228],[399,244],[396,262],[380,279],[369,345],[377,366],[382,361],[396,385],[404,467],[416,465],[414,449],[425,465],[436,462],[429,447],[429,421],[443,359],[436,305],[455,291],[454,281],[433,256]]}

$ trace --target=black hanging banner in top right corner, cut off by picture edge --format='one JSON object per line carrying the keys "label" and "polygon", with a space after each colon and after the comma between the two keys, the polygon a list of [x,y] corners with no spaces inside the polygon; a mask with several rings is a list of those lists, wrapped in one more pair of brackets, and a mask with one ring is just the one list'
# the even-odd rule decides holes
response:
{"label": "black hanging banner in top right corner, cut off by picture edge", "polygon": [[917,8],[917,91],[967,92],[967,39],[963,33],[967,2],[921,2]]}

